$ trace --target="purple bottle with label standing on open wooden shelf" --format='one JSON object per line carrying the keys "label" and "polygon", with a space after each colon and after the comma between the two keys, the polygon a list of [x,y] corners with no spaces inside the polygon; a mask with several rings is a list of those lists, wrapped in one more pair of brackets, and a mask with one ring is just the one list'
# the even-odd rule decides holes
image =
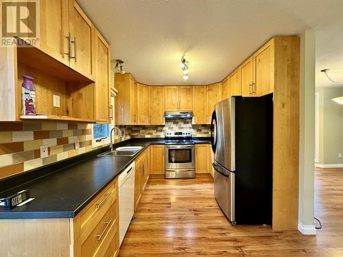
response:
{"label": "purple bottle with label standing on open wooden shelf", "polygon": [[36,88],[34,79],[23,75],[24,81],[21,84],[21,103],[23,115],[36,115]]}

